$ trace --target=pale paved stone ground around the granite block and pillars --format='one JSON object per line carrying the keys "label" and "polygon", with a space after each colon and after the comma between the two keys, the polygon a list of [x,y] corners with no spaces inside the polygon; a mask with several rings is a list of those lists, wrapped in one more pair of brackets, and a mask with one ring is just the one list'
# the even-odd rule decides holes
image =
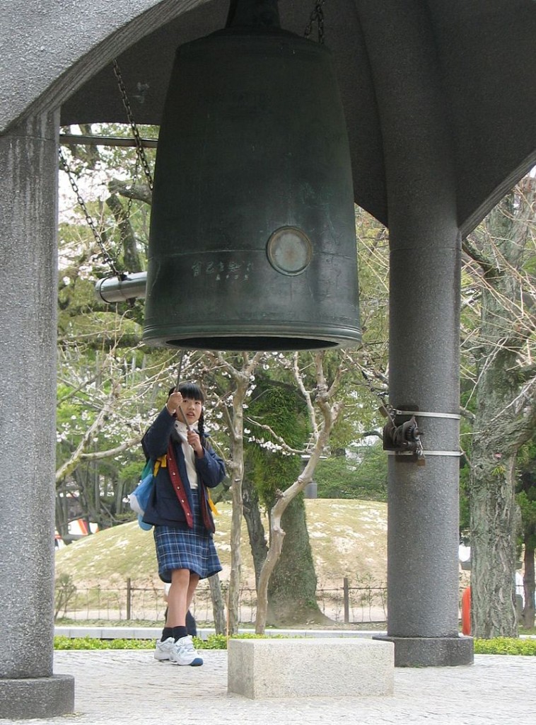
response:
{"label": "pale paved stone ground around the granite block and pillars", "polygon": [[[227,653],[204,666],[148,650],[62,650],[54,672],[75,676],[72,715],[30,725],[527,725],[535,721],[536,657],[475,655],[474,665],[395,668],[390,697],[248,700],[227,695]],[[4,723],[14,721],[2,720]],[[21,721],[19,721],[21,722]]]}

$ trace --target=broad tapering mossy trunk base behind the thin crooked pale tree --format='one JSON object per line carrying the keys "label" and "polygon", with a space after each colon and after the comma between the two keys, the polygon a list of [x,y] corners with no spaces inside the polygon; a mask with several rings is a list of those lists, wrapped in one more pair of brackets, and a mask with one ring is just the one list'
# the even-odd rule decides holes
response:
{"label": "broad tapering mossy trunk base behind the thin crooked pale tree", "polygon": [[327,624],[317,604],[317,575],[307,531],[303,494],[293,499],[281,517],[285,531],[281,555],[269,580],[267,624]]}

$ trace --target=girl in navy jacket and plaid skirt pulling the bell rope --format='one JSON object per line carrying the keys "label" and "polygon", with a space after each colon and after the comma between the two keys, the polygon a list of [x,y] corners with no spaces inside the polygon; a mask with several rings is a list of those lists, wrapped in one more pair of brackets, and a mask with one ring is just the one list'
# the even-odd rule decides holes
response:
{"label": "girl in navy jacket and plaid skirt pulling the bell rope", "polygon": [[172,388],[142,440],[146,456],[160,460],[143,521],[154,526],[160,579],[171,583],[166,624],[154,656],[191,666],[203,660],[188,636],[186,613],[199,579],[222,570],[206,488],[225,478],[225,465],[206,442],[203,402],[193,383]]}

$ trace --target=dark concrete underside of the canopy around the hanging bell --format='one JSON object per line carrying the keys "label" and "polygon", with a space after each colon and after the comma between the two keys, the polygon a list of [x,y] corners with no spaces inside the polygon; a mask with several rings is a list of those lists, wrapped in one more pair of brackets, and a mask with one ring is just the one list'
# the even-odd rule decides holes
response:
{"label": "dark concrete underside of the canopy around the hanging bell", "polygon": [[[412,54],[401,0],[326,0],[325,44],[338,73],[351,144],[356,203],[388,225],[388,184],[377,89],[403,91],[419,115],[415,78],[382,78],[374,59]],[[422,0],[417,35],[437,62],[450,128],[458,224],[467,233],[536,162],[536,1]],[[280,0],[282,27],[303,35],[312,0]],[[159,124],[175,49],[225,25],[227,3],[208,2],[148,34],[118,58],[138,123]],[[374,28],[373,33],[364,31]],[[415,28],[413,28],[415,30]],[[393,112],[395,107],[393,106]],[[125,122],[112,66],[62,106],[62,124]],[[393,119],[390,120],[393,123]],[[403,142],[403,141],[402,141]]]}

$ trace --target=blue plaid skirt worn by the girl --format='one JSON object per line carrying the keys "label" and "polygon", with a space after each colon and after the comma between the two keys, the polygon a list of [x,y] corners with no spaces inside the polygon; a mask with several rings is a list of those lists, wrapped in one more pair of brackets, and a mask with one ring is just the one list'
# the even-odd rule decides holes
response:
{"label": "blue plaid skirt worn by the girl", "polygon": [[207,576],[222,571],[212,535],[206,531],[201,519],[198,489],[192,490],[192,497],[193,529],[186,524],[184,528],[154,527],[158,575],[162,581],[168,583],[171,581],[173,569],[190,569],[198,574],[199,579],[206,579]]}

